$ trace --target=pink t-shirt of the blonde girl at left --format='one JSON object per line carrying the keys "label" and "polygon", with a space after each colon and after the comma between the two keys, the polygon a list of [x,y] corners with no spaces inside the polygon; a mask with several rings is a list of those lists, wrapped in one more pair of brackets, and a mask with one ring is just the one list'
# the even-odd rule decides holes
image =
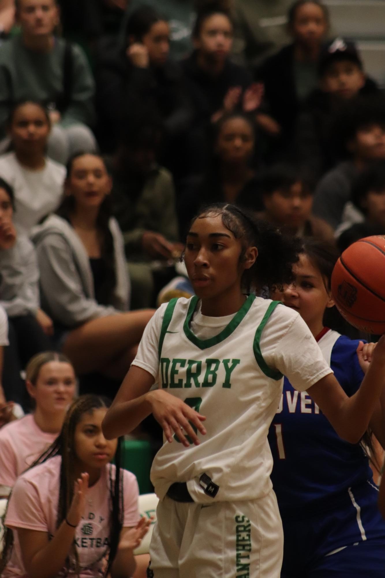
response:
{"label": "pink t-shirt of the blonde girl at left", "polygon": [[20,476],[57,438],[36,425],[33,415],[0,429],[0,486],[12,488]]}

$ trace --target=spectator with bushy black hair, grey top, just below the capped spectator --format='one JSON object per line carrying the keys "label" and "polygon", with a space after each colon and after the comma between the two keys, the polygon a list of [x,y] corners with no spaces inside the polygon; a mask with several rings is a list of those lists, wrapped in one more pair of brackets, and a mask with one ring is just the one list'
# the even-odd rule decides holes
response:
{"label": "spectator with bushy black hair, grey top, just below the capped spectator", "polygon": [[[374,161],[385,160],[385,98],[382,94],[346,103],[333,139],[341,161],[317,185],[313,212],[332,228],[352,222],[354,182]],[[357,220],[357,219],[356,219]]]}

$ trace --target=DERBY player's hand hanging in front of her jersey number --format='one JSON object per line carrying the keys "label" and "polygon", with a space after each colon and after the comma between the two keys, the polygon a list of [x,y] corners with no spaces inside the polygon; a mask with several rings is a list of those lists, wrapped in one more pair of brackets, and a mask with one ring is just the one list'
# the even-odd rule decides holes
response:
{"label": "DERBY player's hand hanging in front of her jersey number", "polygon": [[181,399],[167,393],[167,391],[150,391],[148,401],[151,403],[152,414],[165,432],[167,442],[171,443],[173,441],[175,433],[178,440],[185,447],[190,446],[186,436],[189,437],[193,444],[199,446],[199,438],[193,426],[205,435],[206,430],[201,423],[205,420],[205,416],[196,412],[195,409],[192,409]]}

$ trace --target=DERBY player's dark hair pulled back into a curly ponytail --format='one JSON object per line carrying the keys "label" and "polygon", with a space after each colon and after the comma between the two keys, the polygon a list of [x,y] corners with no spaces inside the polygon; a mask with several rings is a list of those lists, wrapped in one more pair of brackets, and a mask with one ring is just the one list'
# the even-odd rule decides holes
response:
{"label": "DERBY player's dark hair pulled back into a curly ponytail", "polygon": [[292,268],[298,261],[300,241],[283,235],[266,221],[257,219],[255,214],[237,205],[215,203],[202,209],[193,219],[221,216],[222,223],[242,243],[240,261],[244,260],[248,247],[257,247],[255,264],[246,269],[242,276],[242,289],[260,291],[263,287],[282,286],[293,278]]}

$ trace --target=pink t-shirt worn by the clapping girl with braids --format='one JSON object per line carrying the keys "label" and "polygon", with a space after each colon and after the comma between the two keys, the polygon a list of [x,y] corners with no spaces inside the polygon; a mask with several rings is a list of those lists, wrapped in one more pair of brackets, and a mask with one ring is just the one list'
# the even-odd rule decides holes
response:
{"label": "pink t-shirt worn by the clapping girl with braids", "polygon": [[[17,528],[48,532],[54,536],[59,499],[59,471],[61,457],[55,456],[25,472],[14,484],[9,500],[5,525],[14,530],[14,546],[2,578],[27,578],[21,558]],[[75,533],[75,544],[80,562],[80,578],[101,576],[109,550],[110,535],[110,473],[115,477],[115,466],[107,465],[99,480],[88,489],[84,515]],[[123,526],[133,527],[140,520],[139,488],[133,473],[124,470]],[[58,576],[67,576],[65,569]],[[69,572],[74,577],[74,572]]]}

